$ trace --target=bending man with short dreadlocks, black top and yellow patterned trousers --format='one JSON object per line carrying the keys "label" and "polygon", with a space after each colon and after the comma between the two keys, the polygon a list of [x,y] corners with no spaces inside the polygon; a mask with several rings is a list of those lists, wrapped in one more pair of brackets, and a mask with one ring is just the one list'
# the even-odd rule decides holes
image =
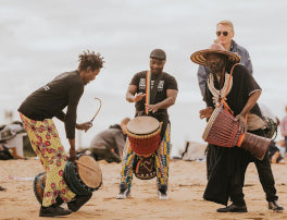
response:
{"label": "bending man with short dreadlocks, black top and yellow patterned trousers", "polygon": [[[47,173],[46,187],[40,207],[40,217],[66,216],[77,211],[88,196],[76,196],[63,179],[66,152],[52,121],[57,117],[65,125],[70,143],[70,160],[75,161],[75,129],[87,131],[89,122],[77,124],[77,105],[84,86],[99,74],[103,58],[93,51],[79,54],[78,69],[58,75],[53,81],[29,95],[18,108],[20,117],[27,130],[33,149]],[[67,107],[66,112],[63,109]],[[57,205],[57,197],[67,203],[67,209]]]}

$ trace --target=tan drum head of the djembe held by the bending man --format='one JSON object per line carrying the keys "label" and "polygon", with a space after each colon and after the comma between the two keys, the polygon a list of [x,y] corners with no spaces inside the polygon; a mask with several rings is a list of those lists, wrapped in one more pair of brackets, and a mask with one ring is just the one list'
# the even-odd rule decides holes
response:
{"label": "tan drum head of the djembe held by the bending man", "polygon": [[98,162],[90,156],[80,156],[76,161],[80,180],[91,188],[98,188],[102,182],[102,173]]}

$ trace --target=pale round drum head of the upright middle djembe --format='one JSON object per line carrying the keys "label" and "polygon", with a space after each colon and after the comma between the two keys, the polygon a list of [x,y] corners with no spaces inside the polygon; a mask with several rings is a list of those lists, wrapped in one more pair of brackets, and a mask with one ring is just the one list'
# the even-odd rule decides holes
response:
{"label": "pale round drum head of the upright middle djembe", "polygon": [[137,117],[126,127],[133,134],[151,134],[160,127],[160,122],[152,117]]}

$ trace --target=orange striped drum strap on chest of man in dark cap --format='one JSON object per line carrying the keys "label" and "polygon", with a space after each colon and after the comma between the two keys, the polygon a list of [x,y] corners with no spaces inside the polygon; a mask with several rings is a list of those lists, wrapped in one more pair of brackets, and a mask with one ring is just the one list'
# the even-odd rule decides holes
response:
{"label": "orange striped drum strap on chest of man in dark cap", "polygon": [[[162,75],[163,74],[160,74],[159,77],[153,82],[153,86],[152,86],[152,89],[151,88],[151,72],[148,71],[147,72],[147,82],[146,82],[146,105],[152,105],[154,103],[154,100],[155,100],[155,95],[157,95],[157,89],[158,89],[158,86],[159,86],[159,83],[162,78]],[[149,111],[147,108],[145,108],[145,112],[146,114],[148,115],[149,114]]]}

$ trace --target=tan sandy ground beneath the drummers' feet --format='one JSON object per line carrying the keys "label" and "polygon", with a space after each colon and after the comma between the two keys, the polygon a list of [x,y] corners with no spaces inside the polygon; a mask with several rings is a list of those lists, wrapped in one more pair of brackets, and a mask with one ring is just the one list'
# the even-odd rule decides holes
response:
{"label": "tan sandy ground beneath the drummers' feet", "polygon": [[[66,219],[287,219],[287,212],[267,209],[265,195],[257,170],[250,163],[244,188],[247,213],[217,213],[221,205],[205,201],[202,194],[207,184],[205,162],[172,160],[169,200],[159,200],[155,179],[141,181],[134,178],[132,197],[115,198],[118,192],[121,164],[99,161],[102,170],[102,186],[77,212]],[[34,176],[42,172],[36,159],[0,161],[0,219],[39,218],[39,204],[33,192]],[[286,164],[272,164],[279,203],[287,208]],[[10,178],[9,178],[10,176]],[[64,205],[66,206],[66,205]],[[61,218],[61,219],[63,219]],[[55,218],[57,219],[57,218]]]}

